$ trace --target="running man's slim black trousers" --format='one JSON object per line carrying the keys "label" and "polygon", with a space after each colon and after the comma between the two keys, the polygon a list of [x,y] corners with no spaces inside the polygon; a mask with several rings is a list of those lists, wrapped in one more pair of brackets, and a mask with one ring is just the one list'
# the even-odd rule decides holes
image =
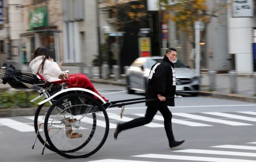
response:
{"label": "running man's slim black trousers", "polygon": [[148,106],[145,117],[133,119],[130,122],[125,122],[119,125],[120,131],[139,127],[151,122],[153,117],[156,115],[157,110],[163,115],[164,118],[164,128],[166,130],[166,135],[169,142],[174,140],[174,136],[172,133],[172,113],[167,106],[160,106],[160,107],[151,107]]}

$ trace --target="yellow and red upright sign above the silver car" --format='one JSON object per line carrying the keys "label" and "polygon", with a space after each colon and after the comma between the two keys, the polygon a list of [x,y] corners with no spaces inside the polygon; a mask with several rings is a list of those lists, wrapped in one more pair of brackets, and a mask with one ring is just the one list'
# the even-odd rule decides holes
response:
{"label": "yellow and red upright sign above the silver car", "polygon": [[140,56],[147,57],[151,53],[151,42],[149,37],[139,38],[140,43]]}

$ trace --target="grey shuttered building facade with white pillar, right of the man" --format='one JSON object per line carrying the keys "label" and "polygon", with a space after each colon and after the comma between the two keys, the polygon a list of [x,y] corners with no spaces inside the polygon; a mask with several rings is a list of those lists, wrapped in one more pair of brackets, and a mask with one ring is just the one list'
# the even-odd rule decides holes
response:
{"label": "grey shuttered building facade with white pillar, right of the man", "polygon": [[[256,16],[253,0],[207,0],[208,14],[214,13],[204,26],[204,45],[200,48],[201,69],[238,73],[256,71]],[[220,7],[222,6],[222,7]],[[218,12],[213,12],[218,11]],[[192,38],[169,21],[168,43],[178,49],[179,58],[194,67]]]}

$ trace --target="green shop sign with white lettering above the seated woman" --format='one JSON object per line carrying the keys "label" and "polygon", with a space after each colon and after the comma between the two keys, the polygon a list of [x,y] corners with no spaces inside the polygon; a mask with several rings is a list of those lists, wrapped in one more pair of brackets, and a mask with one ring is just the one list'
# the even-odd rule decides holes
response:
{"label": "green shop sign with white lettering above the seated woman", "polygon": [[47,25],[47,6],[36,8],[29,13],[29,28],[37,28]]}

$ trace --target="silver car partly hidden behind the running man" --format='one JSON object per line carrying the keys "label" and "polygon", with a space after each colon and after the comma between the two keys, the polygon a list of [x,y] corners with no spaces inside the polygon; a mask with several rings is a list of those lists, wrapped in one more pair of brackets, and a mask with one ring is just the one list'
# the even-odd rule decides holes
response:
{"label": "silver car partly hidden behind the running man", "polygon": [[[126,71],[128,93],[132,94],[135,90],[145,92],[151,67],[162,60],[163,57],[160,56],[137,58]],[[198,95],[199,80],[195,71],[186,67],[180,60],[177,60],[174,67],[176,93]]]}

